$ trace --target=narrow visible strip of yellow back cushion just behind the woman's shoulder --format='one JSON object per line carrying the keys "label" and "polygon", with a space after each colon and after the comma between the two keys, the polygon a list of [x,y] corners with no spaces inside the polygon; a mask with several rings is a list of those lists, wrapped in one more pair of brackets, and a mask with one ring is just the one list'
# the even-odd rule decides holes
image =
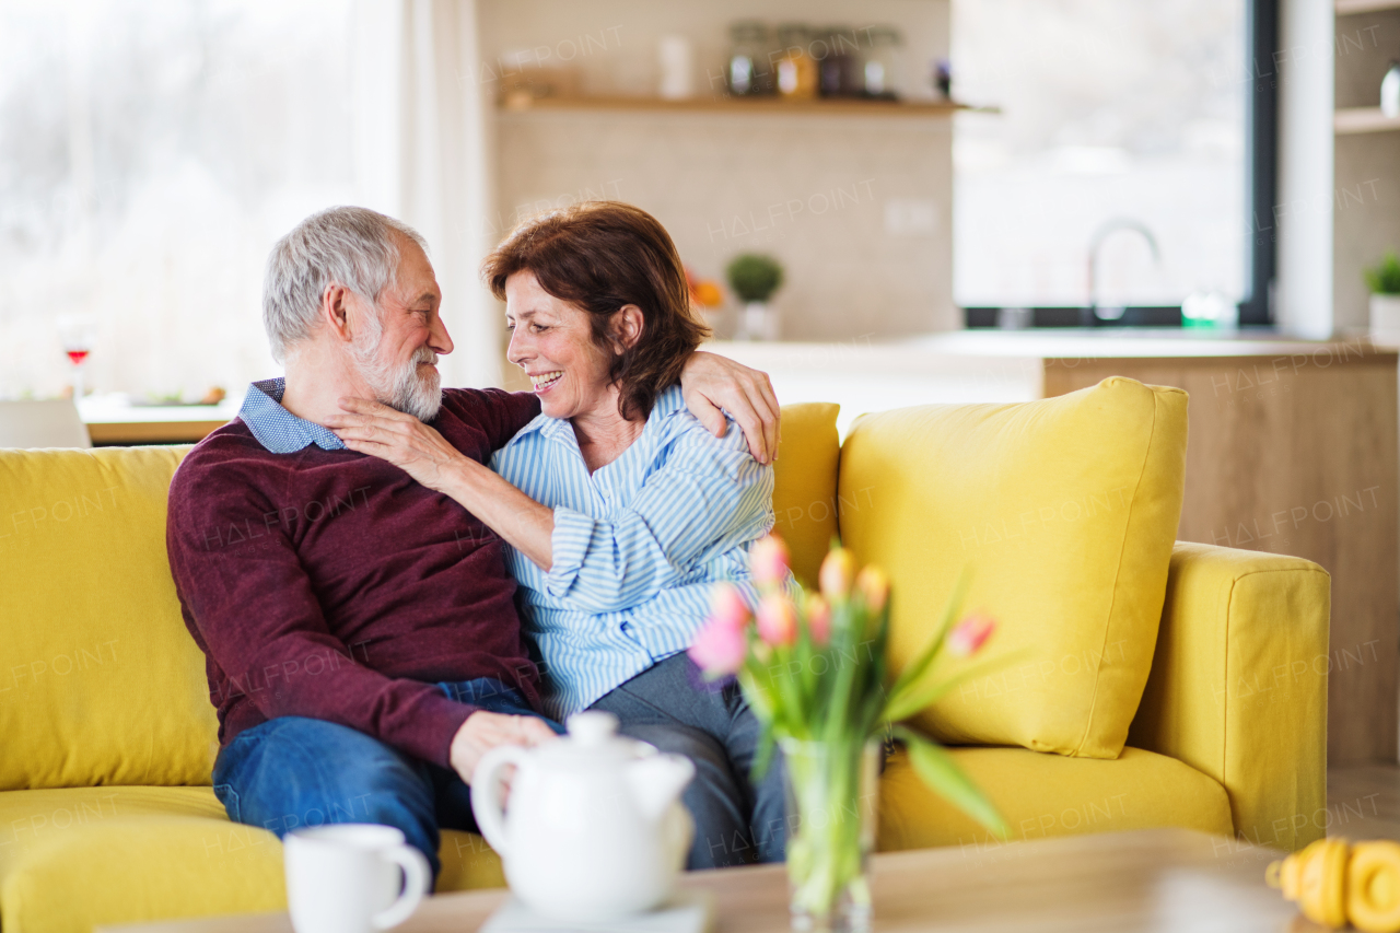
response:
{"label": "narrow visible strip of yellow back cushion just behind the woman's shoulder", "polygon": [[792,573],[804,583],[816,583],[816,572],[836,534],[840,410],[840,405],[830,402],[783,406],[783,437],[773,465],[773,531],[787,542]]}

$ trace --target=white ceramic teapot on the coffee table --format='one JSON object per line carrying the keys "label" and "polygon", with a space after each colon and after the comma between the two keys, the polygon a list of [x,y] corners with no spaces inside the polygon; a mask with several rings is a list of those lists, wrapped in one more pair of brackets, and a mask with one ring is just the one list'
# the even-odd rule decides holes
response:
{"label": "white ceramic teapot on the coffee table", "polygon": [[[507,765],[518,769],[510,811],[501,806]],[[609,922],[671,897],[694,832],[680,806],[692,778],[689,758],[617,735],[610,713],[585,712],[556,742],[486,752],[472,775],[472,811],[526,906]]]}

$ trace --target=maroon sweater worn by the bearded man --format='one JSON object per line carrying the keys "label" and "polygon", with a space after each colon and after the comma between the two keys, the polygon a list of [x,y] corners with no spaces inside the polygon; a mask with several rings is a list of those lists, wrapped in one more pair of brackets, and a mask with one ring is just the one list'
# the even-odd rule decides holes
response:
{"label": "maroon sweater worn by the bearded man", "polygon": [[[531,395],[447,389],[431,424],[486,462],[538,413]],[[308,716],[448,765],[476,707],[435,681],[494,677],[538,706],[501,548],[377,457],[274,454],[242,420],[216,430],[171,482],[167,549],[220,742]]]}

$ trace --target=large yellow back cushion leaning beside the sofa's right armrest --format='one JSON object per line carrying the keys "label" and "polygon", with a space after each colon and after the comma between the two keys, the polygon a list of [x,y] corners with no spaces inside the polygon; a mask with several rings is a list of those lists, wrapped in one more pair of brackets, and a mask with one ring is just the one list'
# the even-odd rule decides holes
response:
{"label": "large yellow back cushion leaning beside the sofa's right armrest", "polygon": [[1009,658],[916,723],[952,744],[1116,758],[1152,663],[1184,471],[1186,392],[1120,377],[860,419],[840,524],[890,576],[892,665],[925,644],[965,567],[965,612],[998,622],[976,661]]}

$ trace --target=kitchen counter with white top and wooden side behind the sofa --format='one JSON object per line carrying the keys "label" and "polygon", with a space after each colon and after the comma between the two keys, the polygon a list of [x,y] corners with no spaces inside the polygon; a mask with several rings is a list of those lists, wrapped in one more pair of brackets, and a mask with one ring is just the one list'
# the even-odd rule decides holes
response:
{"label": "kitchen counter with white top and wooden side behind the sofa", "polygon": [[[1127,375],[1190,394],[1177,538],[1316,560],[1333,577],[1330,763],[1396,761],[1400,412],[1394,347],[1268,331],[960,331],[876,343],[710,343],[778,399],[862,412],[1028,402]],[[1260,672],[1261,677],[1271,675]],[[1267,702],[1267,699],[1261,700]]]}

